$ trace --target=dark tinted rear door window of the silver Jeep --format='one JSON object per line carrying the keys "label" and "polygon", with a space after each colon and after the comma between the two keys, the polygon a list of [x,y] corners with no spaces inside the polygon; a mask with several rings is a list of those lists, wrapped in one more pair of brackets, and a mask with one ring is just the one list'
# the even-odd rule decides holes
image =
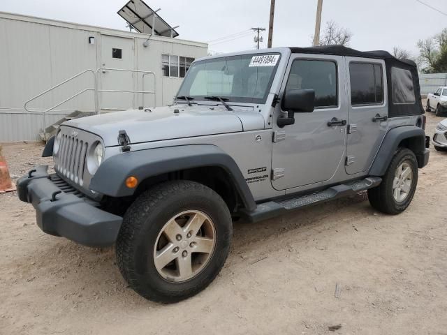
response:
{"label": "dark tinted rear door window of the silver Jeep", "polygon": [[383,103],[382,66],[372,63],[349,63],[351,105]]}

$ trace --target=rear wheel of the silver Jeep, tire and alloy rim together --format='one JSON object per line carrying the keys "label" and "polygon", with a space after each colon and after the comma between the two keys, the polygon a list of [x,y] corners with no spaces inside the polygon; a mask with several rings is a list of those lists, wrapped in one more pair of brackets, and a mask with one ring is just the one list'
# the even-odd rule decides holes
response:
{"label": "rear wheel of the silver Jeep, tire and alloy rim together", "polygon": [[368,190],[369,203],[386,214],[400,214],[409,207],[418,184],[418,162],[413,151],[399,149],[379,186]]}

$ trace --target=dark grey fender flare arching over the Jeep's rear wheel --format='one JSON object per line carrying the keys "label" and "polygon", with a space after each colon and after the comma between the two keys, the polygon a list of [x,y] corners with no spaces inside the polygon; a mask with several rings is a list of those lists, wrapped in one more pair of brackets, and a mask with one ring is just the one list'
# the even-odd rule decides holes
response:
{"label": "dark grey fender flare arching over the Jeep's rear wheel", "polygon": [[388,165],[397,150],[397,147],[402,140],[411,139],[411,149],[416,158],[418,158],[419,168],[423,168],[423,156],[425,153],[425,132],[422,128],[416,126],[400,126],[392,128],[386,133],[385,138],[381,144],[379,152],[374,158],[369,175],[371,176],[383,176],[385,174]]}

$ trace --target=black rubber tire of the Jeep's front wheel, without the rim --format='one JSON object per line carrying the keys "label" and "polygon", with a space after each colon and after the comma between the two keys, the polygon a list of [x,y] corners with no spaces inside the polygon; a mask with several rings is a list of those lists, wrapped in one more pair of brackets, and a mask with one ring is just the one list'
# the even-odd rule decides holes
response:
{"label": "black rubber tire of the Jeep's front wheel, without the rim", "polygon": [[[215,247],[205,267],[188,281],[173,283],[154,265],[154,246],[176,214],[195,209],[214,222]],[[230,211],[211,188],[193,181],[168,181],[142,193],[126,211],[116,243],[117,265],[129,286],[146,299],[173,303],[196,295],[225,264],[232,236]]]}

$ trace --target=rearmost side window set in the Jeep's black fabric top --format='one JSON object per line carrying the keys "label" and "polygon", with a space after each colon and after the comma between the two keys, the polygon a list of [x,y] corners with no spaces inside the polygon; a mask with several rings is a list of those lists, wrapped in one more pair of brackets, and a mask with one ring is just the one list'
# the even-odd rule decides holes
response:
{"label": "rearmost side window set in the Jeep's black fabric top", "polygon": [[413,87],[413,76],[404,68],[391,68],[391,89],[393,91],[393,103],[413,104],[416,102]]}

